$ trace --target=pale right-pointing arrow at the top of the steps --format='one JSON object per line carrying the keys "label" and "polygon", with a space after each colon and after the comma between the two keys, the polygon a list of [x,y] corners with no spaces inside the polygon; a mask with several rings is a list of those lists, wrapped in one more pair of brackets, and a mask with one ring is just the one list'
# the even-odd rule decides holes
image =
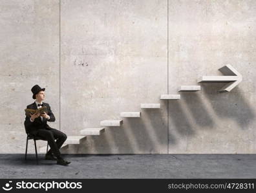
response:
{"label": "pale right-pointing arrow at the top of the steps", "polygon": [[219,69],[224,76],[203,76],[198,79],[201,83],[217,83],[217,82],[228,82],[222,89],[219,90],[220,93],[226,93],[231,91],[242,81],[242,75],[230,64],[223,66]]}

